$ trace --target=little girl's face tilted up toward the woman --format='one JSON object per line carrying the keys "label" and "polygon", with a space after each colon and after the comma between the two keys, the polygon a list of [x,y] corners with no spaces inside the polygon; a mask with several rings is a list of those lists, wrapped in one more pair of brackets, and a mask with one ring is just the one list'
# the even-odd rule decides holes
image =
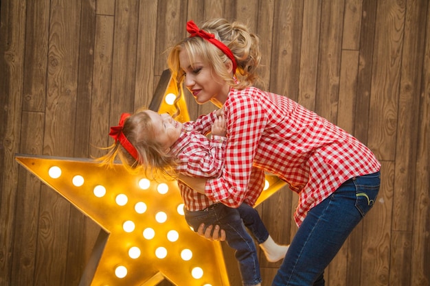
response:
{"label": "little girl's face tilted up toward the woman", "polygon": [[167,113],[159,115],[152,110],[146,110],[152,121],[154,128],[155,140],[164,148],[168,149],[181,136],[182,123],[174,120]]}

